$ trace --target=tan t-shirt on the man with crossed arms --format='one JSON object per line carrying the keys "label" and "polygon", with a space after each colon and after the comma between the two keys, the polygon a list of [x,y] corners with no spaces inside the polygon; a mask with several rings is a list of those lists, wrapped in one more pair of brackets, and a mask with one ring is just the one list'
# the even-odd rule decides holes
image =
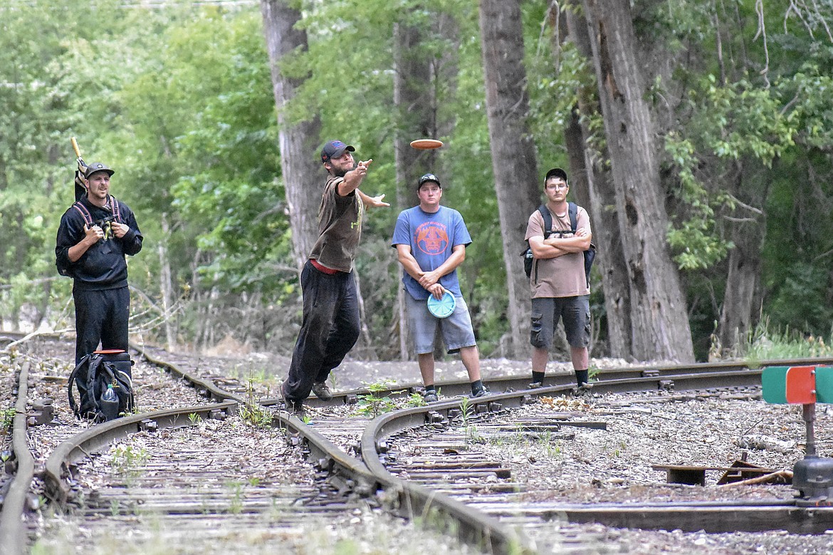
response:
{"label": "tan t-shirt on the man with crossed arms", "polygon": [[[581,207],[578,207],[576,211],[576,228],[591,231],[590,217]],[[570,231],[570,216],[565,213],[563,217],[558,218],[552,214],[552,229]],[[531,237],[544,237],[544,218],[537,210],[532,213],[529,223],[526,224],[526,237],[524,238],[528,241]],[[567,233],[564,237],[571,237],[571,235]],[[529,283],[532,298],[578,297],[590,294],[584,275],[584,254],[569,253],[556,258],[536,260],[532,264]]]}

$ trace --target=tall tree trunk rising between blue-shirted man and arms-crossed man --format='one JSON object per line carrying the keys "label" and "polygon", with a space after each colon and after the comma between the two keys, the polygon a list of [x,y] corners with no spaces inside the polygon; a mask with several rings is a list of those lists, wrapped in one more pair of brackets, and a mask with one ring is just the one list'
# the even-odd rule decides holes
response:
{"label": "tall tree trunk rising between blue-shirted man and arms-crossed man", "polygon": [[486,82],[486,113],[491,140],[498,213],[506,268],[508,313],[513,356],[526,353],[529,280],[519,253],[526,222],[541,199],[535,144],[526,122],[526,92],[521,6],[515,0],[481,0],[481,48]]}

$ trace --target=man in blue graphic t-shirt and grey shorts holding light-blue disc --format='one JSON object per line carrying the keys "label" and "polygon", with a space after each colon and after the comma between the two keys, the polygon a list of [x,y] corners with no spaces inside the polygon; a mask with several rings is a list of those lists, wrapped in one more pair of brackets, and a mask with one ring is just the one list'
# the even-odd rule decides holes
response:
{"label": "man in blue graphic t-shirt and grey shorts holding light-blue disc", "polygon": [[[426,403],[437,401],[434,386],[434,338],[440,326],[449,353],[460,352],[471,381],[472,397],[489,392],[480,378],[480,354],[471,328],[471,317],[460,292],[457,267],[466,259],[471,237],[459,212],[440,206],[442,186],[433,173],[426,173],[416,185],[419,205],[403,210],[397,218],[392,247],[397,249],[405,284],[408,324],[411,328]],[[455,308],[447,318],[428,310],[431,295],[441,299],[454,296]]]}

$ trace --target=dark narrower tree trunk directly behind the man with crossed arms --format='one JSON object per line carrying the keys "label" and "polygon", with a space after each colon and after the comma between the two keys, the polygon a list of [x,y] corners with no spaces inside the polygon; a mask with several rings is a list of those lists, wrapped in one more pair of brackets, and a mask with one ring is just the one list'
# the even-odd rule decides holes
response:
{"label": "dark narrower tree trunk directly behind the man with crossed arms", "polygon": [[[593,51],[586,22],[574,10],[567,9],[565,13],[568,39],[582,56],[591,61]],[[579,95],[579,112],[588,117],[601,112],[597,103],[588,105],[584,97]],[[571,189],[576,193],[579,204],[585,203],[590,213],[593,243],[598,248],[594,266],[599,268],[601,288],[605,293],[607,348],[611,357],[631,359],[631,291],[627,274],[619,271],[619,268],[625,268],[625,255],[622,252],[619,215],[612,208],[616,204],[616,191],[611,173],[604,166],[610,157],[606,149],[596,156],[596,148],[588,144],[591,132],[581,124],[576,111],[572,113],[565,136],[573,183]]]}

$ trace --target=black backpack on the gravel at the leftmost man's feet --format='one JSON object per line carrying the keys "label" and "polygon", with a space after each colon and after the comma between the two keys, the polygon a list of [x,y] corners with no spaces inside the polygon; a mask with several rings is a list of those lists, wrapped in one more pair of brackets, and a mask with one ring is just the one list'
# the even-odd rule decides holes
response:
{"label": "black backpack on the gravel at the leftmost man's feet", "polygon": [[[112,420],[125,413],[131,413],[135,406],[129,353],[96,352],[86,355],[69,375],[67,395],[69,406],[76,418],[87,418],[95,422]],[[79,401],[72,394],[72,384],[78,388]],[[118,409],[108,410],[102,396],[112,385],[118,399]]]}

